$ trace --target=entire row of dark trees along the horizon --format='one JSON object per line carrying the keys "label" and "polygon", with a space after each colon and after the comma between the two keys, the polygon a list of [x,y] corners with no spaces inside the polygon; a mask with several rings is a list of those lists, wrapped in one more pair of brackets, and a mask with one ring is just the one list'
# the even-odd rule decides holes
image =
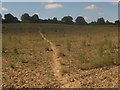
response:
{"label": "entire row of dark trees along the horizon", "polygon": [[24,13],[21,16],[21,21],[18,20],[17,17],[8,13],[4,15],[4,19],[0,14],[0,21],[2,23],[55,23],[55,24],[76,24],[76,25],[118,25],[120,24],[120,20],[116,20],[115,22],[105,21],[103,17],[98,18],[97,21],[92,21],[87,23],[84,17],[78,16],[73,22],[73,18],[71,16],[64,16],[61,20],[58,20],[57,17],[53,19],[40,19],[37,14],[30,16],[28,13]]}

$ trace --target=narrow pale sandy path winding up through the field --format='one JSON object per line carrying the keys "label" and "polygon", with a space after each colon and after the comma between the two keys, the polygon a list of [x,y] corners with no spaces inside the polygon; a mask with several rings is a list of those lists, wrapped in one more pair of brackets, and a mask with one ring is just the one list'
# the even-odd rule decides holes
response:
{"label": "narrow pale sandy path winding up through the field", "polygon": [[51,45],[51,49],[53,50],[53,71],[56,79],[62,84],[62,88],[69,88],[71,87],[70,82],[68,82],[68,77],[64,77],[61,75],[61,64],[60,60],[63,59],[62,57],[59,57],[59,50],[56,47],[55,44],[53,44],[50,40],[48,40],[43,33],[39,31],[42,38],[47,41]]}

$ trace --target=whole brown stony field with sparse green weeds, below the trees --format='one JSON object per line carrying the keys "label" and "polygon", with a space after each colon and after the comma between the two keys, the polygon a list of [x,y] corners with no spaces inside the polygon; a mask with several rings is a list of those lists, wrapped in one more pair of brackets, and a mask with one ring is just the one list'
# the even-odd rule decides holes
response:
{"label": "whole brown stony field with sparse green weeds, below the trees", "polygon": [[118,87],[117,26],[3,24],[2,43],[3,88]]}

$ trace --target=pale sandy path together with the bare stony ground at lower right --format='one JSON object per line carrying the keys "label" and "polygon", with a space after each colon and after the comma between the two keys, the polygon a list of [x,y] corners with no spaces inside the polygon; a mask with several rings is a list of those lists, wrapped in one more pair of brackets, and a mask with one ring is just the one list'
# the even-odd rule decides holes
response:
{"label": "pale sandy path together with the bare stony ground at lower right", "polygon": [[106,66],[91,70],[78,70],[77,73],[67,73],[62,71],[60,63],[63,58],[59,56],[59,50],[56,45],[46,39],[40,32],[42,38],[51,45],[53,50],[53,71],[56,79],[61,83],[61,88],[116,88],[118,87],[118,66]]}

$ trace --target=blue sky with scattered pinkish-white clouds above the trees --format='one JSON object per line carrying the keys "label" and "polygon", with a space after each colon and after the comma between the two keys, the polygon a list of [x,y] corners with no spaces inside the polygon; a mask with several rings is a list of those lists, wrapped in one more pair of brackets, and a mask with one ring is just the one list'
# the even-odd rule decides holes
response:
{"label": "blue sky with scattered pinkish-white clouds above the trees", "polygon": [[24,13],[30,16],[37,14],[41,19],[72,16],[75,20],[83,16],[87,22],[96,21],[103,17],[111,22],[118,19],[118,3],[116,2],[3,2],[2,16],[11,13],[20,17]]}

